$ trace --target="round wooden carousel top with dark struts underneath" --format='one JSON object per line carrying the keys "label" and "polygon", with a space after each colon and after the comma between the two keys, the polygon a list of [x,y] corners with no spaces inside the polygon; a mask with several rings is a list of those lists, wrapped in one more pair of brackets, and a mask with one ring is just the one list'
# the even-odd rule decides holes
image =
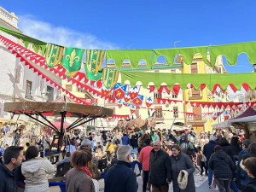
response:
{"label": "round wooden carousel top with dark struts underneath", "polygon": [[[67,127],[67,131],[70,131],[90,120],[96,118],[108,118],[113,115],[113,110],[109,108],[68,102],[5,102],[4,111],[26,114],[26,116],[53,129],[57,134],[63,133],[64,118],[67,116],[77,118],[77,120]],[[39,120],[37,116],[40,116],[46,122]],[[49,119],[45,116],[61,116],[61,131],[49,122]]]}

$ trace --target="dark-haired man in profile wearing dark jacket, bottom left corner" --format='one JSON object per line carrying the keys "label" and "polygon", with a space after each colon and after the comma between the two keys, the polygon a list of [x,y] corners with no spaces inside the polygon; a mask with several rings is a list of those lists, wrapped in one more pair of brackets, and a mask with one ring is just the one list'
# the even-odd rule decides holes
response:
{"label": "dark-haired man in profile wearing dark jacket, bottom left corner", "polygon": [[6,148],[3,164],[0,164],[0,192],[17,191],[15,169],[21,165],[23,159],[23,147]]}

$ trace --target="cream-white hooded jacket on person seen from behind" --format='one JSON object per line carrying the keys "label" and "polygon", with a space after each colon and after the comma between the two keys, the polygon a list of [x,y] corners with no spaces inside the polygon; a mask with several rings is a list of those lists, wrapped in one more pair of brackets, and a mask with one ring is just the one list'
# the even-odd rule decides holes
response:
{"label": "cream-white hooded jacket on person seen from behind", "polygon": [[34,158],[22,163],[21,172],[26,178],[26,192],[48,192],[48,174],[54,173],[55,167],[51,165],[49,160]]}

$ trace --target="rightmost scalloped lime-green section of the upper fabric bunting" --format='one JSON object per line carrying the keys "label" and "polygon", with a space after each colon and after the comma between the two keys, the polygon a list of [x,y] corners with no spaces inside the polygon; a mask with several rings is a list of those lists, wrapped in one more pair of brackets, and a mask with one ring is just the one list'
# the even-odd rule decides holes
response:
{"label": "rightmost scalloped lime-green section of the upper fabric bunting", "polygon": [[224,44],[209,46],[211,66],[215,65],[218,55],[224,55],[230,66],[236,65],[237,57],[241,53],[246,53],[248,61],[252,64],[256,63],[256,42],[245,42],[240,44]]}

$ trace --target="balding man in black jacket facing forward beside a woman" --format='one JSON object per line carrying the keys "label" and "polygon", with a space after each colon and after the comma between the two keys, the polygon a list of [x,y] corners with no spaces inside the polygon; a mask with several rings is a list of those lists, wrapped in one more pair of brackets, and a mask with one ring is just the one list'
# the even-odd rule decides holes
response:
{"label": "balding man in black jacket facing forward beside a woman", "polygon": [[160,141],[154,142],[149,155],[149,172],[152,192],[168,192],[168,184],[172,182],[172,165],[169,155],[161,149]]}

